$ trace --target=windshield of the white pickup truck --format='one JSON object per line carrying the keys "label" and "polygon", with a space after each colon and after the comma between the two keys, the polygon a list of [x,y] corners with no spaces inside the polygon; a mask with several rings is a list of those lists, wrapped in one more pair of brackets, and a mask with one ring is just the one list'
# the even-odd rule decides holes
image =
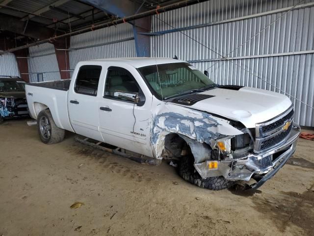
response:
{"label": "windshield of the white pickup truck", "polygon": [[206,75],[187,62],[149,65],[138,70],[159,99],[216,86]]}

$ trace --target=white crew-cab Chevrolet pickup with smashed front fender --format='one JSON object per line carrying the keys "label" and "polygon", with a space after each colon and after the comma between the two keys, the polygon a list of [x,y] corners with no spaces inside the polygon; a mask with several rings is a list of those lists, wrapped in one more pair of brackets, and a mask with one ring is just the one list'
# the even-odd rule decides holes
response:
{"label": "white crew-cab Chevrolet pickup with smashed front fender", "polygon": [[44,143],[68,130],[157,163],[175,159],[185,180],[214,190],[260,187],[300,133],[287,96],[217,85],[177,59],[82,61],[72,80],[27,84],[26,94]]}

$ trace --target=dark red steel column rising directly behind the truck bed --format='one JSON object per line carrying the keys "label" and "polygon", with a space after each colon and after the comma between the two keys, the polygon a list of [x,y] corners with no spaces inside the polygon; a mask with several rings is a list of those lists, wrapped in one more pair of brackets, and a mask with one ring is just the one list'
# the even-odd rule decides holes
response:
{"label": "dark red steel column rising directly behind the truck bed", "polygon": [[55,56],[57,58],[58,67],[60,71],[61,79],[70,79],[70,60],[69,60],[69,49],[70,37],[61,38],[53,42]]}

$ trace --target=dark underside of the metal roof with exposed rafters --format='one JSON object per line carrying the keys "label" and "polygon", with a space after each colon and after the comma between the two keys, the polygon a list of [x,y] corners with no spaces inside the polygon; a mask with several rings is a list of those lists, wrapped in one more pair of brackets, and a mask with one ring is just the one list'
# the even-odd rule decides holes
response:
{"label": "dark underside of the metal roof with exposed rafters", "polygon": [[[180,0],[130,0],[146,9]],[[3,6],[1,6],[4,4]],[[94,18],[93,18],[94,11]],[[36,15],[33,15],[33,14]],[[80,0],[0,0],[0,14],[61,31],[115,18]],[[78,16],[78,17],[77,17]]]}

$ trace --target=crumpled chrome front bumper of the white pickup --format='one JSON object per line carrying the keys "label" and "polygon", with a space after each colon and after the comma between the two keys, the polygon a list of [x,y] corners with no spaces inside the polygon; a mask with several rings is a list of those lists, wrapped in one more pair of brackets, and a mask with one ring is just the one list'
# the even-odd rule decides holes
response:
{"label": "crumpled chrome front bumper of the white pickup", "polygon": [[252,177],[257,181],[251,188],[258,188],[273,177],[285,165],[295,151],[300,126],[293,123],[286,141],[278,147],[264,153],[246,153],[236,159],[218,161],[217,170],[209,170],[209,160],[194,164],[202,178],[223,176],[228,180],[249,181]]}

